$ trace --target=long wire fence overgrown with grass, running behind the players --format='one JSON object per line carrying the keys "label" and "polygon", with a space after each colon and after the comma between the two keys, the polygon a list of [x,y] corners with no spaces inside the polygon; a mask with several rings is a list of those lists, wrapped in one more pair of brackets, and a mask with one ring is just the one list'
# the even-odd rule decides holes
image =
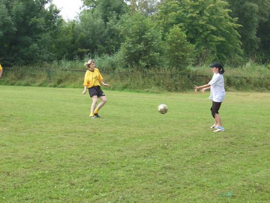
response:
{"label": "long wire fence overgrown with grass, running behind the players", "polygon": [[[50,87],[82,87],[85,70],[6,68],[0,84]],[[211,75],[184,73],[140,73],[102,71],[104,81],[113,89],[183,91],[211,80]],[[240,77],[224,75],[225,87],[237,90],[270,90],[269,77]]]}

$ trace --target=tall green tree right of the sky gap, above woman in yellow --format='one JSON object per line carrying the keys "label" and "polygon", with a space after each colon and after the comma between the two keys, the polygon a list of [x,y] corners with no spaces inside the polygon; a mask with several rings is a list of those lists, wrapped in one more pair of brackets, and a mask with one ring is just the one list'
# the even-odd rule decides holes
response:
{"label": "tall green tree right of the sky gap, above woman in yellow", "polygon": [[117,52],[123,41],[120,19],[128,13],[128,5],[123,0],[91,0],[84,5],[89,9],[80,15],[78,47],[100,55]]}

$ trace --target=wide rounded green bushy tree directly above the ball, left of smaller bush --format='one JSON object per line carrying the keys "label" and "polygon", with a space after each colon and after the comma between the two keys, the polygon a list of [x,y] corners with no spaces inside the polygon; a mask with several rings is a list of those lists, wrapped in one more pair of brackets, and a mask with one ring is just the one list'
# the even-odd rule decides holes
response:
{"label": "wide rounded green bushy tree directly above the ball, left of smaller bush", "polygon": [[162,35],[159,26],[140,13],[126,16],[121,27],[124,43],[120,56],[123,66],[149,68],[162,63]]}

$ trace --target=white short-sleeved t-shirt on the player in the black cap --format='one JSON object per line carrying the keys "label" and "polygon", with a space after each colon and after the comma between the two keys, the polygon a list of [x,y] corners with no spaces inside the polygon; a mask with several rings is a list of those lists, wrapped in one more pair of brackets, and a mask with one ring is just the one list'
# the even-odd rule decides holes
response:
{"label": "white short-sleeved t-shirt on the player in the black cap", "polygon": [[222,74],[214,73],[212,80],[208,83],[211,85],[210,97],[215,102],[222,102],[225,98],[224,79]]}

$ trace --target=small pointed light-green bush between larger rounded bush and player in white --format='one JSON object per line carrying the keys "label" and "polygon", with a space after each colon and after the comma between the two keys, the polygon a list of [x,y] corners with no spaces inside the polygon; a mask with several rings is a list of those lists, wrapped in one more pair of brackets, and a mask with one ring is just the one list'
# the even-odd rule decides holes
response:
{"label": "small pointed light-green bush between larger rounded bush and player in white", "polygon": [[184,69],[191,64],[194,56],[194,46],[186,40],[185,33],[177,26],[170,29],[166,37],[166,59],[169,67]]}

